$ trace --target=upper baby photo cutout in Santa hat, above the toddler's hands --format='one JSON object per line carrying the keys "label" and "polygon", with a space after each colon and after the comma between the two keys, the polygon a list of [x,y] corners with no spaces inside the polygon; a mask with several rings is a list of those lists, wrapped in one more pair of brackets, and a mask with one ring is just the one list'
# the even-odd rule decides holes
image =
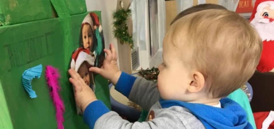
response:
{"label": "upper baby photo cutout in Santa hat, above the toddler's hands", "polygon": [[99,17],[96,13],[89,13],[81,24],[79,47],[89,49],[95,56],[96,67],[101,67],[105,58],[104,36]]}

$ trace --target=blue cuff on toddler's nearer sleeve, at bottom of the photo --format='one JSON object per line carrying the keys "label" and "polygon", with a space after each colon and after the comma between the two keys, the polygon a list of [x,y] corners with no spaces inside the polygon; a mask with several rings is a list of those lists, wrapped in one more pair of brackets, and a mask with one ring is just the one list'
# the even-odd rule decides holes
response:
{"label": "blue cuff on toddler's nearer sleeve, at bottom of the photo", "polygon": [[96,120],[109,111],[110,110],[102,101],[93,101],[86,107],[84,111],[84,122],[88,125],[89,128],[94,128]]}

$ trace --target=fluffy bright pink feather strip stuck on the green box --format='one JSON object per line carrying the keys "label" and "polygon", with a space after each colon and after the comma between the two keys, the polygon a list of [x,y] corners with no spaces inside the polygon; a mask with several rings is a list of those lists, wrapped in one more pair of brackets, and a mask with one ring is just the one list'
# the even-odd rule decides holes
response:
{"label": "fluffy bright pink feather strip stuck on the green box", "polygon": [[56,109],[56,120],[57,120],[58,129],[64,129],[63,114],[65,112],[65,106],[64,106],[63,100],[58,94],[58,91],[61,90],[61,87],[59,86],[59,81],[58,81],[58,79],[60,78],[60,74],[58,70],[52,66],[46,66],[45,72],[46,72],[45,76],[47,79],[47,83],[50,89],[50,95],[51,95],[51,98],[53,99],[53,104]]}

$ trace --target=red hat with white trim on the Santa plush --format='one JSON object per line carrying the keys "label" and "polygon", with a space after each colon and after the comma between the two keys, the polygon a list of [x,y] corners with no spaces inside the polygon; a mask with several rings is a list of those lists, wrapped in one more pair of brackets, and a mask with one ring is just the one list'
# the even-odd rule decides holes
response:
{"label": "red hat with white trim on the Santa plush", "polygon": [[260,16],[260,13],[263,12],[263,8],[267,6],[270,6],[270,9],[274,10],[274,0],[256,0],[253,12],[250,16],[250,21],[252,21],[255,16]]}

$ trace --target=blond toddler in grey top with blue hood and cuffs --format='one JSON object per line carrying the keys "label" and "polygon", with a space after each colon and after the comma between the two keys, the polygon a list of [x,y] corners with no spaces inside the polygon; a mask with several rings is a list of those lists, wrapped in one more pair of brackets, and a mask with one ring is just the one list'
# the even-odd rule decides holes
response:
{"label": "blond toddler in grey top with blue hood and cuffs", "polygon": [[146,122],[130,123],[97,100],[74,70],[75,89],[90,128],[252,128],[246,113],[225,98],[243,86],[259,62],[262,44],[256,30],[237,13],[208,9],[176,20],[163,41],[158,85],[118,70],[110,45],[102,68],[92,67],[115,89],[150,111]]}

